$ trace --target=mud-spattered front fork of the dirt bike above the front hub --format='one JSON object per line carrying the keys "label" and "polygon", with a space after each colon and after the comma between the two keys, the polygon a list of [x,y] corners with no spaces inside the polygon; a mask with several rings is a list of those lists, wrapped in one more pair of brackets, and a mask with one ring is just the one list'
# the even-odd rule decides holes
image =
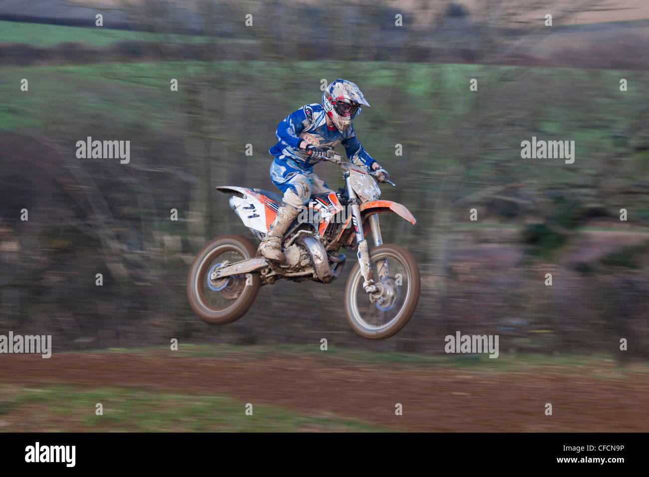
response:
{"label": "mud-spattered front fork of the dirt bike above the front hub", "polygon": [[[349,183],[349,173],[345,175],[345,180],[347,182],[347,191],[349,193],[349,204],[352,206],[352,223],[354,225],[354,232],[356,232],[356,244],[358,245],[358,264],[361,267],[361,275],[363,275],[363,279],[365,280],[363,282],[363,288],[367,293],[371,293],[373,297],[378,298],[383,293],[383,286],[380,283],[374,284],[374,273],[369,260],[369,249],[363,232],[360,201],[358,200],[356,192]],[[378,226],[377,214],[369,216],[369,225],[372,230],[372,236],[374,237],[374,246],[378,247],[383,243],[383,240],[381,238],[381,230]],[[385,278],[389,275],[387,260],[385,258],[376,262],[376,268],[378,270],[379,279]]]}

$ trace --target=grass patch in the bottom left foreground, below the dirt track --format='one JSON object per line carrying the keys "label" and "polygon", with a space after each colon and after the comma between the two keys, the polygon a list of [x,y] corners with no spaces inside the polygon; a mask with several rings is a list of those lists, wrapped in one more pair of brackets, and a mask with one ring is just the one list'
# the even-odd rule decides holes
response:
{"label": "grass patch in the bottom left foreground, below the dirt track", "polygon": [[[0,385],[0,432],[377,432],[382,428],[306,416],[216,396],[138,389]],[[96,405],[103,405],[103,415]],[[29,428],[25,428],[29,422]]]}

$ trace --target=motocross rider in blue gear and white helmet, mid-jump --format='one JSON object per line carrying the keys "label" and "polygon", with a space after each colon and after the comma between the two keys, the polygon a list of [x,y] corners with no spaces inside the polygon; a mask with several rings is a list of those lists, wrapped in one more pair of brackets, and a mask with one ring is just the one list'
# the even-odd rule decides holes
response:
{"label": "motocross rider in blue gear and white helmet, mid-jump", "polygon": [[269,149],[275,156],[271,164],[271,180],[284,193],[281,206],[259,252],[269,260],[284,262],[282,239],[299,215],[300,208],[312,193],[330,192],[328,186],[313,173],[313,165],[321,160],[322,146],[342,144],[347,157],[356,165],[365,166],[388,180],[386,169],[374,160],[356,139],[352,119],[369,106],[356,84],[337,79],[327,86],[322,104],[306,104],[280,121],[275,136],[278,143]]}

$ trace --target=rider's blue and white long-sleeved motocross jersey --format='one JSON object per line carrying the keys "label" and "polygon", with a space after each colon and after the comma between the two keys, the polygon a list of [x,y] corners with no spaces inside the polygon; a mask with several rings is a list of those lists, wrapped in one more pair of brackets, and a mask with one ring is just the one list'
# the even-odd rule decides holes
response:
{"label": "rider's blue and white long-sleeved motocross jersey", "polygon": [[317,164],[320,160],[310,158],[304,149],[300,149],[300,140],[316,146],[336,147],[342,144],[345,147],[347,157],[354,164],[366,165],[369,169],[376,162],[365,152],[361,143],[356,139],[354,127],[350,125],[343,132],[336,128],[330,130],[327,127],[326,113],[322,104],[306,104],[286,116],[277,126],[275,136],[277,136],[278,143],[271,147],[268,152],[275,157],[286,156],[301,169],[307,171],[312,170],[313,164]]}

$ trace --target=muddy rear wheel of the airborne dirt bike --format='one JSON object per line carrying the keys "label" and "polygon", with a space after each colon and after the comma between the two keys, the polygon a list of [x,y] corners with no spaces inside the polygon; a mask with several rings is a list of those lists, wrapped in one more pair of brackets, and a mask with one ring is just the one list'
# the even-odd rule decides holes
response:
{"label": "muddy rear wheel of the airborne dirt bike", "polygon": [[262,286],[259,273],[210,280],[223,262],[239,262],[256,255],[251,241],[240,235],[217,237],[205,245],[191,263],[187,297],[191,309],[210,324],[231,323],[248,312]]}

